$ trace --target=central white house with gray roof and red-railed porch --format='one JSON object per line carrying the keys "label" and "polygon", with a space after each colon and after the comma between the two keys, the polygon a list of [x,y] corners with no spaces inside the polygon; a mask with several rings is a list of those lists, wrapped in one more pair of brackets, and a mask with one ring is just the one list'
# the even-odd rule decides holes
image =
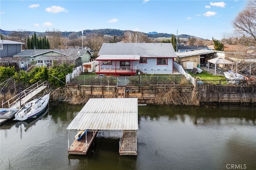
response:
{"label": "central white house with gray roof and red-railed porch", "polygon": [[97,74],[171,74],[177,58],[171,43],[103,43]]}

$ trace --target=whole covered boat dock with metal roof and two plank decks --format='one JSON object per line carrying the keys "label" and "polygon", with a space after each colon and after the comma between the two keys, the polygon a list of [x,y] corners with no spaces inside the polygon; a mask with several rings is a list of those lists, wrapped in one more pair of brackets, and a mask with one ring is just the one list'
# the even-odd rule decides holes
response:
{"label": "whole covered boat dock with metal roof and two plank decks", "polygon": [[[138,99],[91,98],[68,125],[68,154],[86,154],[100,131],[120,132],[119,154],[137,155]],[[86,130],[70,145],[70,130]]]}

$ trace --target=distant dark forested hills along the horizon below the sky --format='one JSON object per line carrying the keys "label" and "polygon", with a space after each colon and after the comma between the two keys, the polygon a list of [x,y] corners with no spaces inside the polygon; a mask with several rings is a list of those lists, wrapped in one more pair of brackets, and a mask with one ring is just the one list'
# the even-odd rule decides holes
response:
{"label": "distant dark forested hills along the horizon below the sky", "polygon": [[[102,35],[110,35],[110,36],[123,36],[124,32],[126,32],[127,30],[117,30],[117,29],[98,29],[98,30],[84,30],[84,36],[86,34],[102,34]],[[0,29],[0,34],[4,35],[4,36],[8,36],[10,33],[12,33],[13,31],[6,31],[6,30],[2,30]],[[70,34],[72,34],[74,32],[62,32],[62,36],[64,37],[68,37]],[[30,31],[30,34],[33,35],[34,32]],[[46,32],[36,32],[37,36],[44,36],[46,34]],[[78,36],[81,36],[82,33],[81,32],[76,32],[76,34],[78,34]],[[149,33],[143,33],[142,34],[146,34],[148,36],[148,38],[161,38],[161,37],[165,37],[165,38],[171,38],[173,34],[166,34],[166,33],[158,33],[158,32],[149,32]],[[178,35],[178,38],[198,38],[195,36],[190,36],[190,35],[186,35],[186,34],[180,34]],[[202,39],[202,38],[200,38]]]}

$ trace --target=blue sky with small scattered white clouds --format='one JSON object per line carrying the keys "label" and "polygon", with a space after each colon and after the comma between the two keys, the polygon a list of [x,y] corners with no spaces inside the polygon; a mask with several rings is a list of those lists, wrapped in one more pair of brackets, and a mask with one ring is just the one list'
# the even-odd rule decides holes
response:
{"label": "blue sky with small scattered white clouds", "polygon": [[[6,31],[119,29],[221,40],[246,0],[0,0]],[[178,32],[178,33],[177,33]]]}

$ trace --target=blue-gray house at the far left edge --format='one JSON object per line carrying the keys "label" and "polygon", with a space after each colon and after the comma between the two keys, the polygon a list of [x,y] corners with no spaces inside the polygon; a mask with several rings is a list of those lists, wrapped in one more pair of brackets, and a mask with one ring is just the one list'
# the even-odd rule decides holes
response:
{"label": "blue-gray house at the far left edge", "polygon": [[0,40],[0,57],[13,57],[22,50],[22,42]]}

